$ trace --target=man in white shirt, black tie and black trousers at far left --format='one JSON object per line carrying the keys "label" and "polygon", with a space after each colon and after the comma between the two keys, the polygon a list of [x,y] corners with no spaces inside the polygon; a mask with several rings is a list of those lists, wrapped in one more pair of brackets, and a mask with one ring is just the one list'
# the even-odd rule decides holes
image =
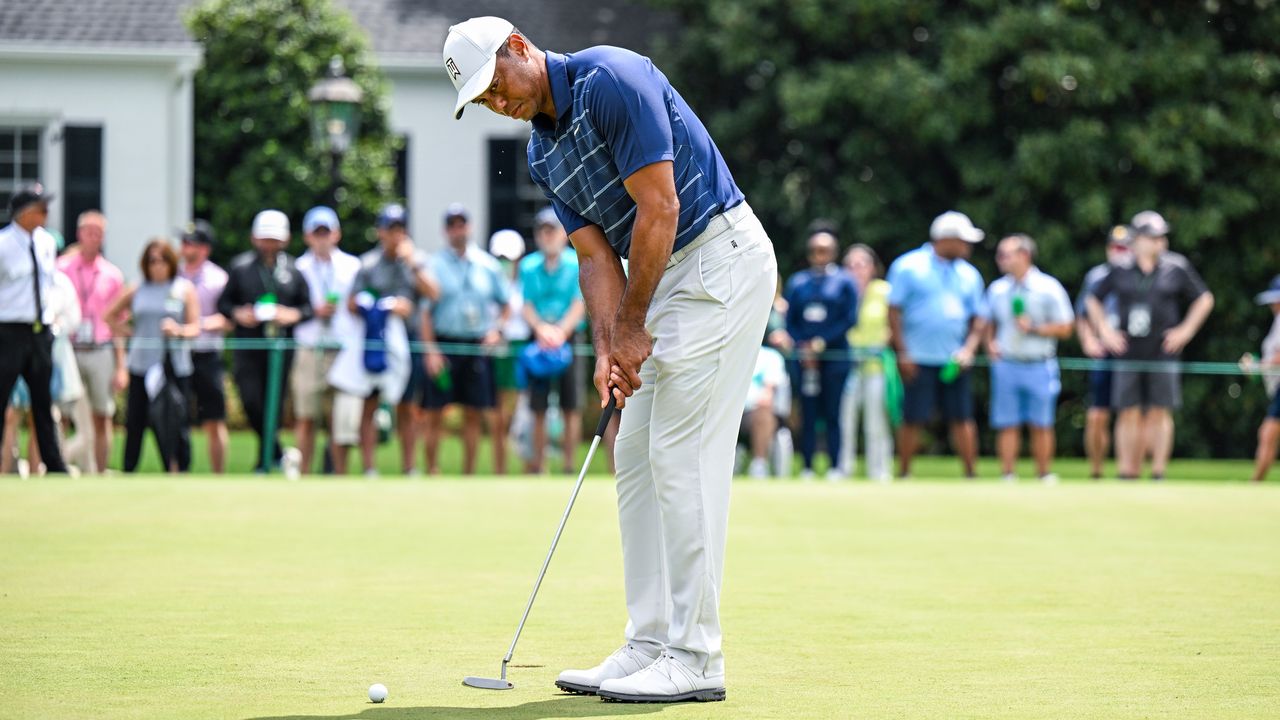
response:
{"label": "man in white shirt, black tie and black trousers at far left", "polygon": [[44,227],[51,199],[38,183],[19,190],[9,200],[9,224],[0,229],[0,418],[8,414],[9,395],[20,375],[31,389],[45,468],[65,473],[49,389],[54,334],[47,299],[58,270],[58,241]]}

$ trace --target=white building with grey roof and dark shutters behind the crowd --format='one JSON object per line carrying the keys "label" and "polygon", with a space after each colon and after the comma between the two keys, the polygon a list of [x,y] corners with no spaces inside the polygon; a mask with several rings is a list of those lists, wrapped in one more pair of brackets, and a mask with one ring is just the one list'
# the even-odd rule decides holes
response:
{"label": "white building with grey roof and dark shutters behind the crowd", "polygon": [[[390,81],[389,123],[406,140],[410,231],[425,247],[442,242],[451,202],[467,206],[477,238],[504,227],[527,234],[544,204],[525,167],[527,124],[488,111],[453,119],[456,94],[440,67],[451,23],[502,14],[552,50],[608,42],[644,51],[658,27],[653,12],[631,0],[334,1],[369,33]],[[182,14],[192,4],[0,0],[0,222],[13,190],[40,179],[56,195],[50,229],[70,241],[76,217],[101,209],[106,255],[136,278],[146,241],[191,219],[192,76],[201,46]]]}

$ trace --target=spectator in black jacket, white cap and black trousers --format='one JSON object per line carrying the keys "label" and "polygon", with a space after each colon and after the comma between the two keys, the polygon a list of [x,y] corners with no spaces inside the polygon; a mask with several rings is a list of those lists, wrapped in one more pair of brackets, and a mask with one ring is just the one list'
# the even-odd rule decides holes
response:
{"label": "spectator in black jacket, white cap and black trousers", "polygon": [[[227,288],[218,299],[218,311],[230,318],[237,340],[261,341],[264,338],[289,338],[293,327],[310,320],[311,291],[306,278],[297,265],[284,252],[289,242],[289,218],[279,210],[262,210],[253,218],[251,231],[253,250],[232,259],[227,273]],[[261,346],[259,346],[261,347]],[[241,404],[248,415],[250,425],[257,434],[259,448],[253,471],[266,473],[285,456],[280,447],[276,427],[270,428],[273,457],[264,459],[268,445],[266,404],[268,393],[279,395],[273,401],[284,406],[284,395],[289,387],[289,369],[293,365],[293,351],[284,350],[278,388],[268,387],[270,355],[257,347],[239,347],[232,354],[232,375],[239,389]],[[302,462],[297,448],[289,448],[284,471],[296,475]]]}

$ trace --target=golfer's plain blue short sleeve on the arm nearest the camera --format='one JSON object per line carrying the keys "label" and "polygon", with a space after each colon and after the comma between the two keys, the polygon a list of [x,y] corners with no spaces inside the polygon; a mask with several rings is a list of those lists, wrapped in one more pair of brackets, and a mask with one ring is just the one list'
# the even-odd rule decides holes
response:
{"label": "golfer's plain blue short sleeve on the arm nearest the camera", "polygon": [[667,83],[649,60],[602,67],[590,82],[591,123],[604,137],[622,179],[645,165],[676,158]]}

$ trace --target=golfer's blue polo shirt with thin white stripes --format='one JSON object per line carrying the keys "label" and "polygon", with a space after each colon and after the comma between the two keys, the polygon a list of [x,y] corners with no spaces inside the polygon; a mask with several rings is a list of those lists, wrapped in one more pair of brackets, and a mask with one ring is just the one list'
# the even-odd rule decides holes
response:
{"label": "golfer's blue polo shirt with thin white stripes", "polygon": [[599,225],[627,258],[636,204],[622,181],[662,160],[680,195],[673,251],[742,202],[707,128],[649,58],[608,45],[547,53],[547,74],[558,117],[534,117],[529,172],[566,232]]}

